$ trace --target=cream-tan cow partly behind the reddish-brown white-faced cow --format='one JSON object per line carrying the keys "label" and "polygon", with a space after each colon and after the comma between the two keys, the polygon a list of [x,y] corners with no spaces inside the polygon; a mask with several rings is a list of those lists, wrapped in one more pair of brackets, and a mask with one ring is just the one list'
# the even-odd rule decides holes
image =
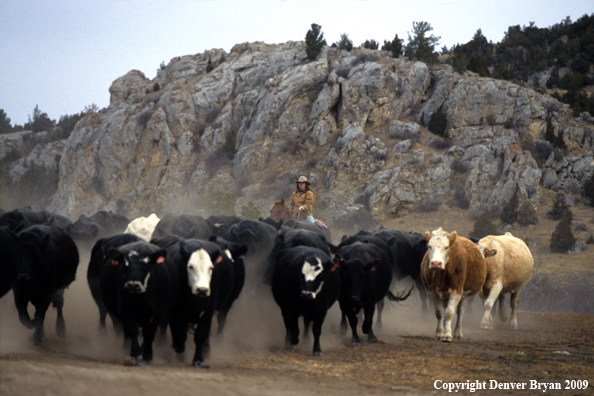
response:
{"label": "cream-tan cow partly behind the reddish-brown white-faced cow", "polygon": [[505,235],[486,236],[478,242],[478,246],[483,251],[487,263],[487,280],[480,293],[485,301],[485,314],[481,321],[481,328],[493,328],[491,309],[497,299],[499,299],[499,318],[502,322],[507,321],[504,302],[505,294],[510,293],[512,312],[509,327],[516,329],[520,291],[530,279],[534,265],[530,249],[524,241],[514,237],[510,232],[506,232]]}

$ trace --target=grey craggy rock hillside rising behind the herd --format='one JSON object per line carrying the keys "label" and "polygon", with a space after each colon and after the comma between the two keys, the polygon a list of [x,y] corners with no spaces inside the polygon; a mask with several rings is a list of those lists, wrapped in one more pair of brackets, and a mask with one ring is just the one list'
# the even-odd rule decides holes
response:
{"label": "grey craggy rock hillside rising behind the herd", "polygon": [[[40,137],[23,151],[27,132],[1,136],[0,159],[17,182],[35,158],[48,169],[57,158],[48,208],[70,218],[206,213],[221,193],[237,214],[252,200],[265,216],[300,174],[327,221],[444,204],[497,212],[516,193],[537,208],[543,189],[579,199],[594,172],[587,113],[576,119],[513,83],[388,55],[326,47],[311,62],[303,42],[288,42],[174,58],[153,80],[133,70],[114,81],[107,110],[89,111],[64,141]],[[421,126],[438,109],[449,140]],[[548,120],[567,150],[533,158]]]}

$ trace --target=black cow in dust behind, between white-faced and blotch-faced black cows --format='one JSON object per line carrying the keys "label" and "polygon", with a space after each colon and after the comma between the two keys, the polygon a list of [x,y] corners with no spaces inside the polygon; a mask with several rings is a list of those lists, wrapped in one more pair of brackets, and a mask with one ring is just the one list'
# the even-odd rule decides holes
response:
{"label": "black cow in dust behind, between white-faced and blotch-faced black cows", "polygon": [[276,235],[277,230],[271,225],[258,220],[242,220],[233,224],[223,236],[227,241],[247,246],[245,265],[249,284],[260,283]]}

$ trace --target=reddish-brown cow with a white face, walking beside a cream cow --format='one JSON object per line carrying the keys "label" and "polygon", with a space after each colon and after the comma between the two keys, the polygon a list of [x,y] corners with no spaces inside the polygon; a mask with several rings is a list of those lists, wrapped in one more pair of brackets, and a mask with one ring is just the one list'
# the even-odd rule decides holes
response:
{"label": "reddish-brown cow with a white face, walking beside a cream cow", "polygon": [[421,263],[421,279],[435,304],[435,336],[441,341],[452,341],[456,311],[454,337],[461,339],[468,297],[478,293],[485,283],[485,258],[476,244],[458,236],[456,231],[448,233],[440,227],[431,233],[426,231],[425,239],[428,250]]}

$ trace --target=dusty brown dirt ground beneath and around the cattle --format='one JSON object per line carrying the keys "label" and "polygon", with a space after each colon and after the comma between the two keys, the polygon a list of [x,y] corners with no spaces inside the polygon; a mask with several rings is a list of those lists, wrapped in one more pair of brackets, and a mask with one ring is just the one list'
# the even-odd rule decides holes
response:
{"label": "dusty brown dirt ground beneath and around the cattle", "polygon": [[[591,227],[591,210],[574,214]],[[458,213],[411,214],[385,225],[419,232],[443,226],[462,235],[472,230],[472,221]],[[594,269],[591,247],[579,255],[547,253],[554,225],[545,220],[531,229],[512,229],[530,237],[535,271]],[[524,383],[524,390],[486,392],[530,395],[543,393],[542,386],[531,390],[531,381],[562,388],[584,384],[572,380],[590,385],[546,393],[594,394],[594,316],[521,311],[518,330],[509,330],[497,317],[495,330],[481,330],[482,308],[476,298],[464,317],[464,339],[441,343],[434,339],[435,315],[422,312],[416,291],[404,303],[387,303],[383,326],[374,326],[381,343],[364,341],[360,347],[350,345],[350,330],[340,335],[335,304],[322,329],[324,356],[315,358],[311,338],[301,337],[292,351],[284,349],[284,326],[270,291],[248,285],[229,314],[224,338],[212,340],[209,369],[190,366],[191,337],[184,362],[168,339],[156,346],[153,366],[126,366],[129,350],[115,337],[111,322],[107,334],[98,330],[87,263],[88,253],[83,252],[77,280],[66,290],[64,339],[56,336],[56,311],[50,308],[44,345],[31,346],[32,332],[19,323],[12,293],[0,299],[0,395],[425,395],[449,393],[443,388],[448,383],[468,386],[477,381],[487,389]],[[408,285],[403,282],[397,289]]]}

